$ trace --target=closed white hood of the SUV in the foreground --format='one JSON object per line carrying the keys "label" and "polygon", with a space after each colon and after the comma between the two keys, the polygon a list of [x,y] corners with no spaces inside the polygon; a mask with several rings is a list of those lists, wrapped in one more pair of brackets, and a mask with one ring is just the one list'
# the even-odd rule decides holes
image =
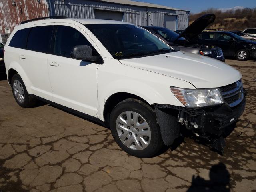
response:
{"label": "closed white hood of the SUV in the foreground", "polygon": [[242,77],[238,70],[224,62],[181,51],[119,61],[127,66],[187,81],[196,88],[221,87]]}

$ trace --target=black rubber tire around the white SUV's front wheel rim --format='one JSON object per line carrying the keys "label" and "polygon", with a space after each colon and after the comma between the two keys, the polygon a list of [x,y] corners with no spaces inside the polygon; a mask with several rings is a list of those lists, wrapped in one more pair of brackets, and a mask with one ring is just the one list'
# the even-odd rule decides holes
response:
{"label": "black rubber tire around the white SUV's front wheel rim", "polygon": [[[149,125],[151,139],[148,146],[142,150],[134,150],[126,146],[118,136],[116,129],[116,120],[120,114],[126,111],[132,111],[142,116]],[[159,125],[156,123],[156,115],[153,109],[144,102],[136,99],[126,99],[117,104],[110,114],[110,129],[116,143],[125,152],[139,158],[150,158],[158,155],[164,147]],[[134,133],[133,133],[134,134]],[[135,134],[136,135],[136,134]]]}

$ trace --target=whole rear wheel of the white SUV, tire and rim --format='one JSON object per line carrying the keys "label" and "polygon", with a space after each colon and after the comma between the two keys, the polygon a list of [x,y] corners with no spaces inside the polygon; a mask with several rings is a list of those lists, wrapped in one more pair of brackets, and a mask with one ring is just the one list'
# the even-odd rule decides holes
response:
{"label": "whole rear wheel of the white SUV, tire and rim", "polygon": [[36,99],[28,94],[25,84],[19,74],[14,74],[12,77],[11,86],[14,99],[21,107],[28,108],[36,104]]}

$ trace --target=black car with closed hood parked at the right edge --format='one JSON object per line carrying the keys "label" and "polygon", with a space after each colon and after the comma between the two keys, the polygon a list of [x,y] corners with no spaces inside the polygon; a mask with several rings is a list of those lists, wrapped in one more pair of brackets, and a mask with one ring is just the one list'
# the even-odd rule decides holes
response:
{"label": "black car with closed hood parked at the right edge", "polygon": [[235,57],[242,61],[247,60],[249,56],[256,57],[256,42],[245,40],[232,32],[202,32],[196,42],[219,46],[225,57]]}

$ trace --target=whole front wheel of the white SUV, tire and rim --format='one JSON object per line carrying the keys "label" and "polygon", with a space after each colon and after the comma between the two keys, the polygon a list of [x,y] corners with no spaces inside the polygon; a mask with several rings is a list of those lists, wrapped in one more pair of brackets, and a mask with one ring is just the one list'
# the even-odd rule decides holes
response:
{"label": "whole front wheel of the white SUV, tire and rim", "polygon": [[116,105],[110,128],[116,143],[132,156],[149,158],[164,147],[152,108],[140,100],[126,99]]}

